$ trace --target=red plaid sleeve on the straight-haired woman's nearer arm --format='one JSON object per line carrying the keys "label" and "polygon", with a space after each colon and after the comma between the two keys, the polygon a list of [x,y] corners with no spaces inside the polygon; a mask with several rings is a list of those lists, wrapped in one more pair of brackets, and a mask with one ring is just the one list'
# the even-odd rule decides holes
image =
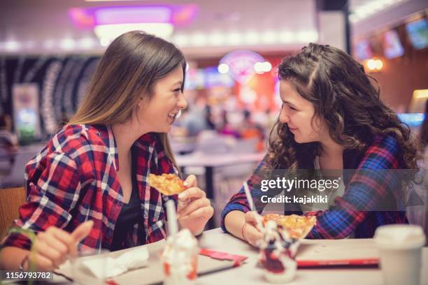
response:
{"label": "red plaid sleeve on the straight-haired woman's nearer arm", "polygon": [[[64,228],[80,193],[76,162],[67,154],[53,152],[41,161],[30,161],[27,175],[27,203],[20,207],[20,218],[13,226],[34,233],[49,226]],[[31,242],[23,233],[14,232],[6,237],[3,246],[30,249]]]}

